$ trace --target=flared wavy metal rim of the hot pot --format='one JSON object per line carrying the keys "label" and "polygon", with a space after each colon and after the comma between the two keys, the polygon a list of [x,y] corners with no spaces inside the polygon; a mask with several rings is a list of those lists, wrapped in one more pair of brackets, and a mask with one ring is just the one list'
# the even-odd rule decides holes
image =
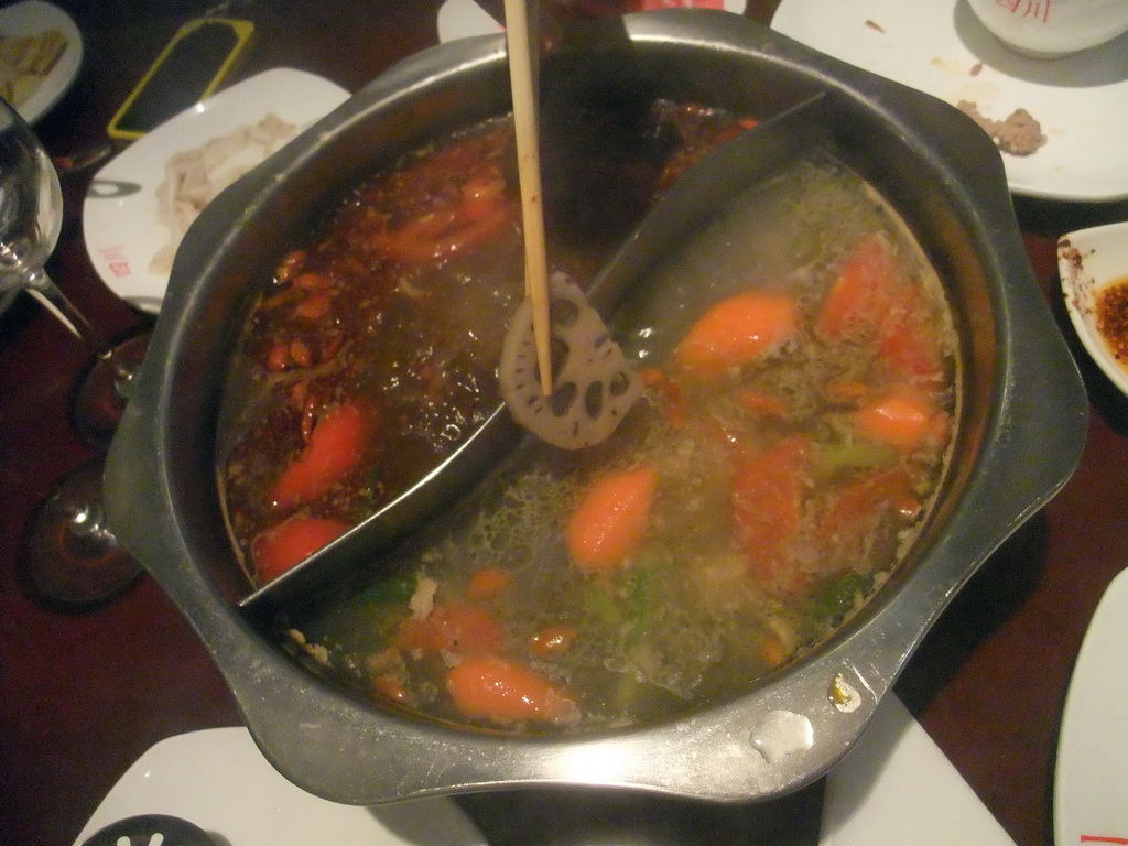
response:
{"label": "flared wavy metal rim of the hot pot", "polygon": [[[209,340],[201,327],[239,306],[217,280],[240,270],[254,252],[248,223],[284,204],[292,180],[320,178],[323,151],[353,143],[373,116],[403,116],[415,99],[464,78],[497,73],[504,64],[500,36],[413,56],[232,186],[193,227],[107,461],[115,531],[192,623],[266,757],[315,794],[378,804],[566,783],[747,801],[796,790],[845,755],[951,597],[1079,460],[1087,414],[1081,379],[1026,261],[998,155],[982,133],[971,132],[968,118],[737,16],[647,12],[627,16],[625,28],[632,49],[644,54],[691,54],[706,69],[747,63],[791,78],[800,89],[825,91],[843,120],[865,117],[883,127],[888,143],[918,157],[922,178],[931,177],[945,213],[966,228],[969,256],[979,264],[994,309],[982,318],[997,346],[997,360],[986,365],[994,368],[994,397],[970,444],[973,467],[896,601],[869,613],[801,672],[779,673],[723,705],[629,731],[513,738],[407,720],[317,681],[204,572],[204,562],[224,554],[214,532],[201,526],[214,510],[214,485],[209,493],[185,479],[213,483],[214,469],[205,465],[214,431],[185,422],[185,395],[200,395],[193,399],[197,415],[213,406],[206,374],[231,340]],[[614,49],[608,45],[622,32],[605,23],[585,37],[596,49]],[[792,723],[799,733],[786,729],[788,754],[776,755],[767,732]]]}

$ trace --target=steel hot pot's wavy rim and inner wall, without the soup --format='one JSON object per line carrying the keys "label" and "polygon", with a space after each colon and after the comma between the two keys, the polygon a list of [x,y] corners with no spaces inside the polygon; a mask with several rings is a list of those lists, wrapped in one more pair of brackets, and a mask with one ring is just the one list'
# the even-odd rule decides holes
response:
{"label": "steel hot pot's wavy rim and inner wall, without the soup", "polygon": [[111,522],[212,654],[264,755],[328,799],[378,804],[508,786],[633,787],[761,800],[822,775],[858,739],[925,632],[977,566],[1066,482],[1087,403],[1032,276],[999,156],[962,114],[743,18],[669,11],[578,29],[543,86],[667,96],[773,115],[821,100],[823,134],[897,208],[961,333],[954,466],[899,574],[804,660],[730,700],[629,730],[511,737],[408,719],[299,664],[240,607],[217,416],[257,280],[380,162],[509,109],[501,37],[408,59],[217,200],[177,256],[106,470]]}

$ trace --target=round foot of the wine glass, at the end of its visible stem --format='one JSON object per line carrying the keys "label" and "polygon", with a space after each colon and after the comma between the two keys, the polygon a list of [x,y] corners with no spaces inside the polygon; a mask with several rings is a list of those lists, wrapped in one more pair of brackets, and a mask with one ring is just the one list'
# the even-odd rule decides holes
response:
{"label": "round foot of the wine glass, at the end of its visible stem", "polygon": [[[111,356],[99,356],[74,386],[71,425],[85,443],[105,450],[125,409],[123,373],[132,374],[149,347],[151,332],[146,329],[113,347]],[[127,379],[126,379],[127,381]]]}

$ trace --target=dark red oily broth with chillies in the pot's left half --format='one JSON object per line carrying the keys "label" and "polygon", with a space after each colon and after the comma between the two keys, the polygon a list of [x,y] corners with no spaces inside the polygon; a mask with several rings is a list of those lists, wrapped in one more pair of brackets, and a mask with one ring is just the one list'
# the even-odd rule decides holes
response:
{"label": "dark red oily broth with chillies in the pot's left half", "polygon": [[[751,125],[658,102],[545,115],[549,264],[587,284],[656,193]],[[402,493],[499,404],[522,298],[509,118],[374,174],[281,256],[226,397],[220,484],[263,583]]]}

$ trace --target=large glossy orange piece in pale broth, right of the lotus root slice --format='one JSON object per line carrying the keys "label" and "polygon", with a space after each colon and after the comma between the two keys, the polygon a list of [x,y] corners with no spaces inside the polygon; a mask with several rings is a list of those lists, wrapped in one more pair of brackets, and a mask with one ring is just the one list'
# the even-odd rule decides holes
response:
{"label": "large glossy orange piece in pale broth, right of the lotus root slice", "polygon": [[791,297],[749,291],[706,311],[678,344],[675,359],[690,370],[717,372],[778,350],[796,325]]}

